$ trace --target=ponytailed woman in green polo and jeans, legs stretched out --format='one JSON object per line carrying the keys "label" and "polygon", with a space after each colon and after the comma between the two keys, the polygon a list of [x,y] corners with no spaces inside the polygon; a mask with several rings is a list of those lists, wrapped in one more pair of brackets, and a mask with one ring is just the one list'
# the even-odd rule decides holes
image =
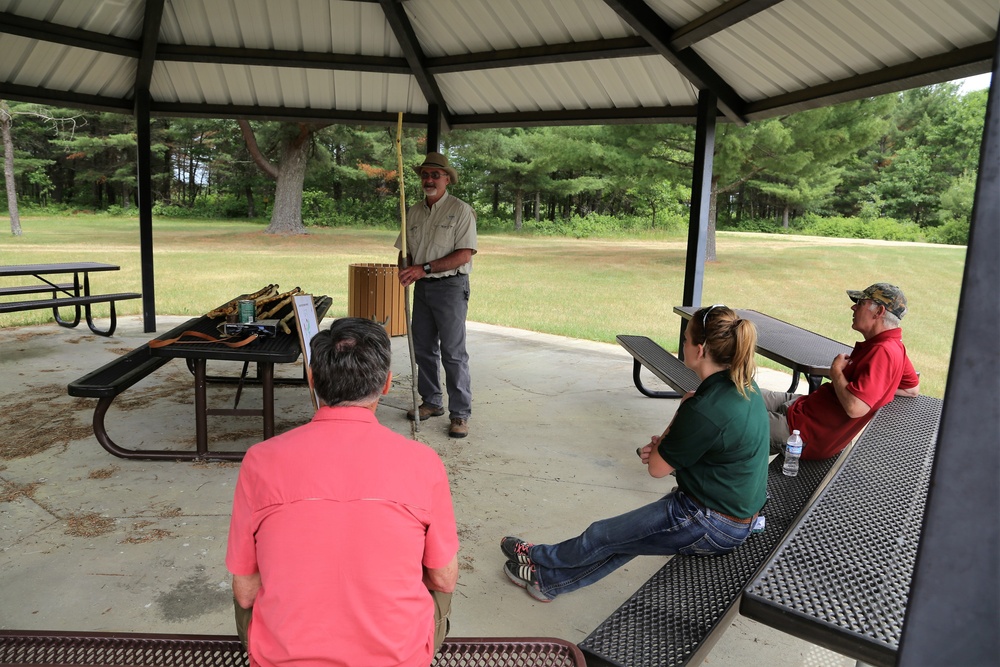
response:
{"label": "ponytailed woman in green polo and jeans, legs stretched out", "polygon": [[724,554],[740,546],[767,496],[769,428],[753,379],[756,347],[753,323],[731,309],[696,312],[684,332],[684,365],[701,385],[663,435],[640,449],[649,474],[675,473],[677,488],[559,544],[503,538],[507,577],[548,602],[636,556]]}

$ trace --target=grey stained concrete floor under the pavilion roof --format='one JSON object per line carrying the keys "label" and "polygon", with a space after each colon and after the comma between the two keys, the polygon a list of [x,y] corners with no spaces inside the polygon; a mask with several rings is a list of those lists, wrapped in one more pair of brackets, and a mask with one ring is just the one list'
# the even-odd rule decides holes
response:
{"label": "grey stained concrete floor under the pavilion roof", "polygon": [[[161,317],[158,328],[181,321]],[[110,338],[55,324],[0,329],[0,628],[233,632],[224,555],[238,464],[113,457],[91,430],[96,399],[66,393],[68,383],[151,337],[137,317],[122,318]],[[616,345],[470,323],[469,350],[470,436],[449,439],[446,418],[416,434],[444,460],[458,517],[452,635],[580,642],[664,559],[638,558],[542,604],[507,581],[498,542],[508,534],[565,539],[668,491],[671,482],[649,477],[635,448],[663,430],[677,401],[641,396],[632,359]],[[405,337],[393,338],[393,351],[394,390],[378,417],[410,435]],[[301,367],[279,374],[301,376]],[[789,376],[764,369],[758,381],[785,389]],[[186,368],[171,362],[115,401],[111,437],[125,447],[193,449],[192,391]],[[230,407],[232,393],[210,387],[210,406]],[[279,432],[309,419],[304,388],[275,393]],[[241,406],[259,401],[249,388]],[[259,420],[211,417],[209,434],[213,449],[245,448],[260,439]],[[853,661],[739,617],[705,664]]]}

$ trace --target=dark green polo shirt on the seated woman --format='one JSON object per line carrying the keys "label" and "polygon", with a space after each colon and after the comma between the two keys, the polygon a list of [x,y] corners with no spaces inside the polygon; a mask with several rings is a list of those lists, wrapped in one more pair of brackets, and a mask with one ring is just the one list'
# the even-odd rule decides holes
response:
{"label": "dark green polo shirt on the seated woman", "polygon": [[710,375],[681,403],[660,441],[677,486],[709,509],[745,519],[767,498],[770,430],[757,383],[740,396],[728,371]]}

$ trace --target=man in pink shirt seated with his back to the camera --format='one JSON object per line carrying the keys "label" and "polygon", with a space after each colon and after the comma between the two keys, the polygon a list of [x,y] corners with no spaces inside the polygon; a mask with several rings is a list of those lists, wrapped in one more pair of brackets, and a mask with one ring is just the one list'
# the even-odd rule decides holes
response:
{"label": "man in pink shirt seated with his back to the camera", "polygon": [[251,665],[427,667],[447,634],[458,535],[441,459],[381,426],[385,330],[334,321],[312,340],[321,407],[251,447],[229,526]]}

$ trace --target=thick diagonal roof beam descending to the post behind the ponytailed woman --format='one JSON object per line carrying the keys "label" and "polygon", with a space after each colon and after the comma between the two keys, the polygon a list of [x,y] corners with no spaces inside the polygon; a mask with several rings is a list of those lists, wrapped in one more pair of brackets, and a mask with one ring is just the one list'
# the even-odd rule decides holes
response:
{"label": "thick diagonal roof beam descending to the post behind the ponytailed woman", "polygon": [[671,45],[674,31],[642,0],[604,0],[640,37],[698,90],[711,90],[719,108],[730,120],[745,125],[746,102],[719,74],[691,49],[676,51]]}

